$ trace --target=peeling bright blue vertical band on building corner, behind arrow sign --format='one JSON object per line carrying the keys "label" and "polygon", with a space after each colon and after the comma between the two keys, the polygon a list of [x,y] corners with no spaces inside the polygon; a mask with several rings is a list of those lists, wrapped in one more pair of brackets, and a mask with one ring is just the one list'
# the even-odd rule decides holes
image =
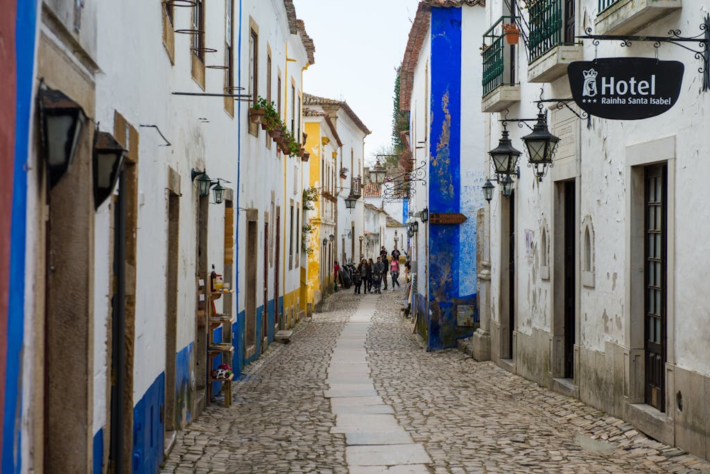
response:
{"label": "peeling bright blue vertical band on building corner, behind arrow sign", "polygon": [[[457,213],[461,202],[461,9],[432,9],[430,213]],[[457,225],[429,226],[427,350],[456,346],[473,328],[459,327],[457,306],[476,304],[459,295],[460,232]],[[476,242],[469,251],[476,253]],[[475,268],[471,271],[475,272]]]}

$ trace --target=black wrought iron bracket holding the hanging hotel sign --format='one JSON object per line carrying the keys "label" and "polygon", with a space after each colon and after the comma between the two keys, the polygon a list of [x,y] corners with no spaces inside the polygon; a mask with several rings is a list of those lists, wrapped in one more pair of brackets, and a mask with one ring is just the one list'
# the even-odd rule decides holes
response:
{"label": "black wrought iron bracket holding the hanging hotel sign", "polygon": [[[679,46],[693,53],[695,59],[702,61],[702,67],[698,68],[698,72],[702,77],[701,90],[706,92],[710,89],[710,13],[705,15],[699,28],[700,33],[695,36],[681,36],[680,30],[669,30],[667,36],[593,35],[591,34],[591,28],[586,28],[586,35],[577,36],[577,38],[592,40],[595,46],[599,45],[600,41],[621,41],[622,48],[630,47],[634,41],[653,43],[653,47],[656,50],[660,48],[662,43],[671,43]],[[697,43],[698,49],[691,48],[684,43]]]}

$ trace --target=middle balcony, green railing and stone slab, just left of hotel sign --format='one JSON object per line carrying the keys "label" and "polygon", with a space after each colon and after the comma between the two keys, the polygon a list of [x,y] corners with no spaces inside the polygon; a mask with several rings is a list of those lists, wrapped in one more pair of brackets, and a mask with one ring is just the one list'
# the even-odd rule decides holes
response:
{"label": "middle balcony, green railing and stone slab, just left of hotel sign", "polygon": [[564,31],[562,0],[537,0],[529,4],[530,65],[528,82],[552,82],[567,74],[567,65],[582,59],[581,44],[574,44],[572,23]]}

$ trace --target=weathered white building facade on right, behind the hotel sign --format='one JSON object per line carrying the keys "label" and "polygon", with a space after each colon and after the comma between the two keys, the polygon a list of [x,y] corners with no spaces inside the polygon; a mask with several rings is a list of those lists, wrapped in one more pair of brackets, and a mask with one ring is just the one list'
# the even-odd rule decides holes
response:
{"label": "weathered white building facade on right, behind the hotel sign", "polygon": [[[547,24],[542,18],[552,9],[560,20]],[[697,210],[705,208],[698,180],[710,165],[699,157],[709,125],[697,118],[710,96],[694,55],[676,45],[577,39],[586,28],[694,36],[703,6],[550,1],[511,11],[491,1],[486,13],[486,150],[498,145],[506,115],[535,117],[535,101],[572,97],[569,62],[657,57],[682,62],[685,72],[677,103],[651,118],[592,116],[588,123],[574,102],[543,103],[560,139],[554,167],[537,181],[522,156],[512,196],[496,187],[486,206],[490,253],[484,249],[479,260],[490,262],[491,280],[490,297],[481,300],[478,357],[486,358],[490,343],[490,357],[504,368],[708,458],[709,426],[701,420],[710,397],[699,390],[710,380],[710,297],[701,270],[708,224]],[[501,24],[510,16],[530,25],[515,46],[503,43]],[[523,150],[520,138],[530,131],[511,125],[512,144]],[[481,286],[488,291],[487,280]]]}

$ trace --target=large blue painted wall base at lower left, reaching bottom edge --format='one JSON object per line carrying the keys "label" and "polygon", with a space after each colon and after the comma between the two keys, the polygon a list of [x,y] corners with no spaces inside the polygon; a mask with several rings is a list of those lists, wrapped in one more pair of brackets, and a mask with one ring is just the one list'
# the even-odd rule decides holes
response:
{"label": "large blue painted wall base at lower left, reaching bottom edge", "polygon": [[163,462],[165,373],[160,373],[133,407],[133,473],[157,473]]}

